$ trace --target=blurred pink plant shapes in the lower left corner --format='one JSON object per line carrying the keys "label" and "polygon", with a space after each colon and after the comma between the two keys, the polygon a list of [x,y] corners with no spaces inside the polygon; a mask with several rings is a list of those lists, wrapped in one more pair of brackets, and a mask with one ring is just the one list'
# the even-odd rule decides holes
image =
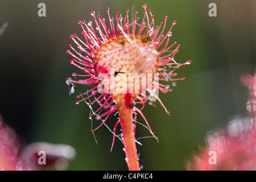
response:
{"label": "blurred pink plant shapes in the lower left corner", "polygon": [[[46,164],[39,164],[39,151],[45,152]],[[35,142],[25,146],[0,115],[0,171],[64,170],[75,155],[75,149],[67,144]]]}

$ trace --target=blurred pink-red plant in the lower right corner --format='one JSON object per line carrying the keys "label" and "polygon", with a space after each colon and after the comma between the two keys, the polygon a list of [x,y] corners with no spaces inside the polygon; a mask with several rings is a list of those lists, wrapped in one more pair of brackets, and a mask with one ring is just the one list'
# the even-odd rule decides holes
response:
{"label": "blurred pink-red plant in the lower right corner", "polygon": [[[256,73],[254,76],[241,77],[242,84],[249,88],[249,100],[246,103],[248,117],[235,119],[227,129],[207,134],[207,147],[200,148],[199,155],[186,165],[188,170],[256,170]],[[216,154],[216,163],[212,156]],[[216,152],[216,153],[215,153]]]}

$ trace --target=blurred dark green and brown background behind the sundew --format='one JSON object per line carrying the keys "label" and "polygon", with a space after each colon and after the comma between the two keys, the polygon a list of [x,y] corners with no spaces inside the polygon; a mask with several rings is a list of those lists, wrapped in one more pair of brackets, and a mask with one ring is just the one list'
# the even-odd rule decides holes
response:
{"label": "blurred dark green and brown background behind the sundew", "polygon": [[[40,2],[46,3],[46,17],[38,16]],[[217,5],[217,17],[208,15],[211,2]],[[184,170],[208,131],[226,125],[236,114],[246,114],[248,91],[240,76],[252,75],[256,65],[255,0],[0,0],[0,24],[9,22],[0,37],[0,114],[27,143],[73,146],[77,155],[69,170],[127,169],[121,142],[115,140],[110,154],[113,135],[102,126],[94,133],[96,144],[88,106],[75,104],[77,94],[88,88],[77,85],[76,93],[68,95],[65,79],[79,72],[66,53],[72,43],[69,35],[81,34],[77,21],[92,20],[91,11],[107,18],[106,7],[114,17],[116,12],[124,17],[130,9],[142,19],[143,3],[156,24],[166,15],[170,25],[177,20],[171,41],[181,47],[175,60],[192,60],[176,71],[186,80],[176,82],[172,93],[160,93],[171,116],[159,103],[143,109],[159,139],[139,140],[143,169]],[[108,119],[110,129],[115,121],[114,116]],[[144,123],[142,118],[138,121]],[[94,119],[93,127],[98,124]],[[138,125],[137,137],[144,136],[151,134]]]}

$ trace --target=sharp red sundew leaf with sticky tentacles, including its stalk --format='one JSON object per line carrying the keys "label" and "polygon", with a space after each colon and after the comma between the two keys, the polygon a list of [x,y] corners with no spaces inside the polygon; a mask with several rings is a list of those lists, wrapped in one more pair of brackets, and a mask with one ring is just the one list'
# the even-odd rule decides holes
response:
{"label": "sharp red sundew leaf with sticky tentacles, including its stalk", "polygon": [[[137,12],[131,18],[129,10],[126,10],[125,18],[118,13],[112,18],[107,8],[109,28],[105,19],[93,11],[91,15],[96,27],[92,22],[80,20],[78,23],[85,40],[76,34],[71,35],[70,38],[78,49],[69,45],[71,49],[67,51],[73,57],[70,63],[85,72],[84,75],[72,74],[75,78],[80,77],[80,80],[67,78],[69,94],[75,92],[76,84],[92,87],[77,96],[79,101],[76,104],[84,101],[90,109],[93,104],[99,105],[89,116],[92,118],[94,115],[102,121],[98,127],[106,125],[111,114],[118,113],[119,117],[112,131],[113,143],[115,137],[122,140],[129,170],[140,170],[135,145],[137,114],[142,116],[148,130],[156,138],[142,109],[146,102],[152,104],[152,101],[158,100],[169,114],[158,97],[158,91],[167,93],[171,89],[160,81],[184,80],[185,78],[175,78],[177,74],[174,71],[191,63],[187,61],[180,64],[174,60],[180,45],[176,45],[176,42],[169,43],[176,21],[172,22],[166,34],[167,16],[164,23],[156,26],[151,10],[147,10],[147,5],[143,5],[143,8],[142,21]],[[116,135],[119,123],[122,134]]]}

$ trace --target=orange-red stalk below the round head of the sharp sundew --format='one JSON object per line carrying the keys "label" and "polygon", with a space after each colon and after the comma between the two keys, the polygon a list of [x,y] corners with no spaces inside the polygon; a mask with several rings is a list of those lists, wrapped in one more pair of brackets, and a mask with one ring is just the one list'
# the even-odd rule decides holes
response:
{"label": "orange-red stalk below the round head of the sharp sundew", "polygon": [[[129,97],[129,100],[133,99]],[[139,171],[140,167],[135,143],[135,127],[133,125],[133,109],[127,104],[127,98],[120,99],[117,102],[117,108],[121,120],[127,166],[130,171]]]}

